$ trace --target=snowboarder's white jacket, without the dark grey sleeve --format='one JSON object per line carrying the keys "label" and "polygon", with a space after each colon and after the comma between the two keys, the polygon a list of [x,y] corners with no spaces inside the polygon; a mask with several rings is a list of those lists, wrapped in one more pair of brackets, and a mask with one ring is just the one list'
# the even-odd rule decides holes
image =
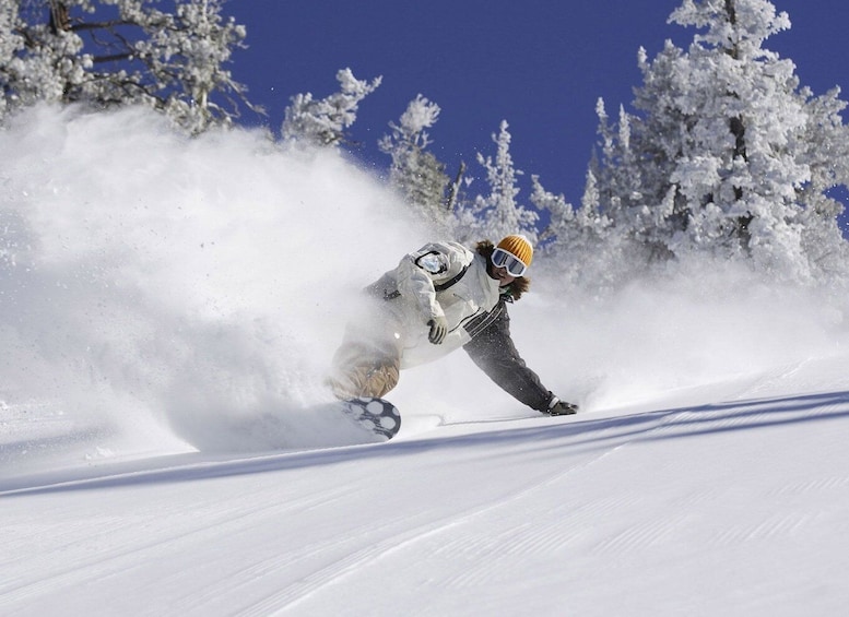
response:
{"label": "snowboarder's white jacket, without the dark grey sleeve", "polygon": [[[445,287],[445,288],[443,288]],[[471,335],[464,325],[498,304],[498,281],[484,258],[457,242],[432,242],[401,259],[369,287],[382,300],[387,324],[401,347],[401,367],[421,365],[460,348]],[[427,340],[427,322],[444,316],[448,334],[439,345]]]}

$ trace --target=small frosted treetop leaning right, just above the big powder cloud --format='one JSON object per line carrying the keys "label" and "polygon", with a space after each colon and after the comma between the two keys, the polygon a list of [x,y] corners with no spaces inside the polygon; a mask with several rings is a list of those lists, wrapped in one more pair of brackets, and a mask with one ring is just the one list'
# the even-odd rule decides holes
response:
{"label": "small frosted treetop leaning right, just above the big powder cloud", "polygon": [[283,139],[290,143],[335,146],[349,141],[345,130],[356,120],[359,102],[380,85],[381,76],[357,80],[351,69],[337,72],[340,91],[316,100],[313,94],[296,94],[286,107]]}

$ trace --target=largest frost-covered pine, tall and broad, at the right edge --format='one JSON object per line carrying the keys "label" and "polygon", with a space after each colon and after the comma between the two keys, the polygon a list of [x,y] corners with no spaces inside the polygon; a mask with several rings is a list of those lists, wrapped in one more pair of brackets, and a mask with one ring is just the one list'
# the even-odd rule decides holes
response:
{"label": "largest frost-covered pine, tall and broad, at the right edge", "polygon": [[639,114],[621,116],[627,137],[606,144],[602,167],[614,170],[599,177],[602,209],[671,254],[743,256],[809,280],[819,270],[814,245],[845,252],[836,204],[822,195],[849,176],[816,156],[846,152],[835,97],[811,98],[792,61],[763,47],[790,27],[767,0],[684,0],[670,21],[701,33],[686,52],[668,41],[648,61],[640,50]]}

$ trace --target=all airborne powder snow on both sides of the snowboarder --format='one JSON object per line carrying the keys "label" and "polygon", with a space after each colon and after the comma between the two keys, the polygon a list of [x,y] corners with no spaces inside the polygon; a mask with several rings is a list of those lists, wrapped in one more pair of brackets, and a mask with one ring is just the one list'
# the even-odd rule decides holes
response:
{"label": "all airborne powder snow on both sides of the snowboarder", "polygon": [[[271,414],[309,446],[321,429],[297,414],[328,395],[358,290],[434,239],[337,152],[182,138],[142,109],[35,107],[0,132],[0,401],[51,402],[98,444],[249,449],[257,432],[233,427]],[[516,345],[587,413],[842,340],[839,302],[733,264],[694,259],[604,294],[531,275]],[[529,413],[462,353],[402,376],[392,400],[411,416]]]}

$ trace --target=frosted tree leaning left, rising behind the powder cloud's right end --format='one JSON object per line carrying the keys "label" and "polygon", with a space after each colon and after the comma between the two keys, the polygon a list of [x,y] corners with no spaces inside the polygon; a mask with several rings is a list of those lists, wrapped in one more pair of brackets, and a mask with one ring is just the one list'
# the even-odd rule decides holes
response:
{"label": "frosted tree leaning left, rising behind the powder cloud's right end", "polygon": [[426,129],[439,117],[439,106],[417,95],[401,115],[392,132],[379,142],[380,150],[392,157],[389,182],[398,189],[413,211],[437,229],[448,226],[445,190],[449,178],[445,164],[425,149],[431,144]]}

